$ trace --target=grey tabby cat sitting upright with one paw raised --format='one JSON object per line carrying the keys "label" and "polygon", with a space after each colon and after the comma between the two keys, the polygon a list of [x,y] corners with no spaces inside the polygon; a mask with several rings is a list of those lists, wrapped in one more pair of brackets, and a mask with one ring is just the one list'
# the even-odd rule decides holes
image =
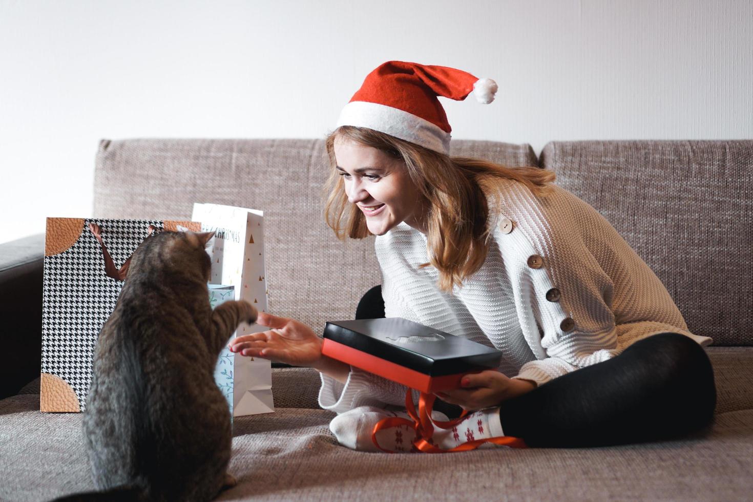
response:
{"label": "grey tabby cat sitting upright with one paw raised", "polygon": [[245,301],[212,311],[212,235],[159,233],[133,254],[97,340],[84,414],[94,485],[105,491],[62,500],[212,500],[235,485],[230,410],[213,371],[258,312]]}

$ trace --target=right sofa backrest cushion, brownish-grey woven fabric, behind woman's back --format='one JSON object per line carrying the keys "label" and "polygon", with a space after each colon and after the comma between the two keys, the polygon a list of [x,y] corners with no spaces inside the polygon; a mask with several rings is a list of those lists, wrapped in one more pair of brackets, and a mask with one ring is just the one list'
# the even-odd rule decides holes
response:
{"label": "right sofa backrest cushion, brownish-grey woven fabric, behind woman's back", "polygon": [[553,141],[540,164],[651,266],[691,332],[753,345],[753,141]]}

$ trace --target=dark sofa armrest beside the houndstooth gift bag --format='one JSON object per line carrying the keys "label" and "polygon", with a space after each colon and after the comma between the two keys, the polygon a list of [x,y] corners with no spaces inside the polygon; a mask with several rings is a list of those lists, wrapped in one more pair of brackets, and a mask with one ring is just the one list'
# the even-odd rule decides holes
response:
{"label": "dark sofa armrest beside the houndstooth gift bag", "polygon": [[0,399],[39,376],[44,234],[0,244]]}

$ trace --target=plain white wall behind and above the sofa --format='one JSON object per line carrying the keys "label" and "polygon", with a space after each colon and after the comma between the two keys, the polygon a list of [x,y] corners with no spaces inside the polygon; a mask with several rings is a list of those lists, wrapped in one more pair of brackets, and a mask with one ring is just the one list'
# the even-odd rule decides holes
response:
{"label": "plain white wall behind and above the sofa", "polygon": [[498,82],[444,100],[455,138],[751,138],[751,26],[748,0],[0,0],[0,242],[90,216],[99,138],[323,137],[389,59]]}

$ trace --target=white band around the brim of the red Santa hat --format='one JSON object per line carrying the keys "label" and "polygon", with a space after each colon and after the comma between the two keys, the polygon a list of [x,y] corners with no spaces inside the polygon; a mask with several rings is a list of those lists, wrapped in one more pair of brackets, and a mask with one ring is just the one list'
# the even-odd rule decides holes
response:
{"label": "white band around the brim of the red Santa hat", "polygon": [[450,154],[450,133],[428,120],[392,106],[365,101],[349,102],[340,112],[337,127],[367,127],[416,145]]}

